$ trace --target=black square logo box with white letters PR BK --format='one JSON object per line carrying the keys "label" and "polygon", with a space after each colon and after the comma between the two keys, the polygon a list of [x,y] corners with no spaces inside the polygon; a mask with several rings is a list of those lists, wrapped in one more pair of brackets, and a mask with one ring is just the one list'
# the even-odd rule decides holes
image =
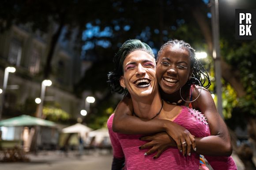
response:
{"label": "black square logo box with white letters PR BK", "polygon": [[[250,13],[252,15],[251,22],[252,26],[250,28],[252,35],[239,35],[239,14],[240,13]],[[242,21],[242,25],[246,25],[246,19]],[[256,40],[256,9],[236,9],[236,40]]]}

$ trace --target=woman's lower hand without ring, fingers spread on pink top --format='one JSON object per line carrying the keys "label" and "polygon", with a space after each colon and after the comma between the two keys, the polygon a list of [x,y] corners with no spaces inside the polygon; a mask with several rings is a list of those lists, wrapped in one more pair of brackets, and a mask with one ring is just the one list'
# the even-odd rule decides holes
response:
{"label": "woman's lower hand without ring, fingers spread on pink top", "polygon": [[150,141],[140,146],[139,149],[151,148],[145,153],[146,155],[150,155],[157,151],[157,153],[153,157],[154,159],[158,158],[167,148],[171,146],[176,146],[175,141],[166,132],[141,137],[140,140]]}

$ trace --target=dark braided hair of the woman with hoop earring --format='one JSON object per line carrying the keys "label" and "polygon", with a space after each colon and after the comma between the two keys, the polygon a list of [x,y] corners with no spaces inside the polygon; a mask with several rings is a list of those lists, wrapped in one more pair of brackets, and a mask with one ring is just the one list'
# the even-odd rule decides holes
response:
{"label": "dark braided hair of the woman with hoop earring", "polygon": [[[190,68],[193,69],[192,75],[194,78],[188,79],[188,81],[186,82],[186,85],[191,85],[191,84],[200,85],[201,83],[201,85],[205,89],[208,89],[211,85],[211,80],[209,78],[207,70],[205,70],[202,63],[196,58],[194,48],[192,48],[190,44],[184,42],[183,40],[170,40],[165,44],[163,44],[160,50],[158,51],[157,60],[164,48],[166,48],[167,46],[175,46],[175,45],[179,45],[181,48],[186,49],[189,52],[189,56],[191,60]],[[200,81],[200,83],[195,78],[197,78]]]}

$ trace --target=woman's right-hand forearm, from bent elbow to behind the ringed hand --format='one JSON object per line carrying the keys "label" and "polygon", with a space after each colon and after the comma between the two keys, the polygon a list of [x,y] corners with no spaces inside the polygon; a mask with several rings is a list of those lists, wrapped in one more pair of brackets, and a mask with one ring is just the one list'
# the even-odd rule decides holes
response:
{"label": "woman's right-hand forearm, from bent elbow to behind the ringed hand", "polygon": [[201,155],[230,156],[232,144],[218,135],[208,137],[196,137],[196,152]]}

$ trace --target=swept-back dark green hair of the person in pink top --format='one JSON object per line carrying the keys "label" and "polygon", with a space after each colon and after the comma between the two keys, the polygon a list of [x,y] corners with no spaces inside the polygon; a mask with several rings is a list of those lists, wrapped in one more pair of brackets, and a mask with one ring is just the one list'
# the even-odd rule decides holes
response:
{"label": "swept-back dark green hair of the person in pink top", "polygon": [[142,50],[147,52],[154,58],[154,53],[148,44],[141,42],[140,40],[127,40],[119,48],[117,54],[113,58],[114,70],[108,74],[108,83],[112,92],[117,92],[119,94],[127,94],[127,89],[124,89],[120,85],[120,77],[124,75],[124,59],[132,52],[136,50]]}

